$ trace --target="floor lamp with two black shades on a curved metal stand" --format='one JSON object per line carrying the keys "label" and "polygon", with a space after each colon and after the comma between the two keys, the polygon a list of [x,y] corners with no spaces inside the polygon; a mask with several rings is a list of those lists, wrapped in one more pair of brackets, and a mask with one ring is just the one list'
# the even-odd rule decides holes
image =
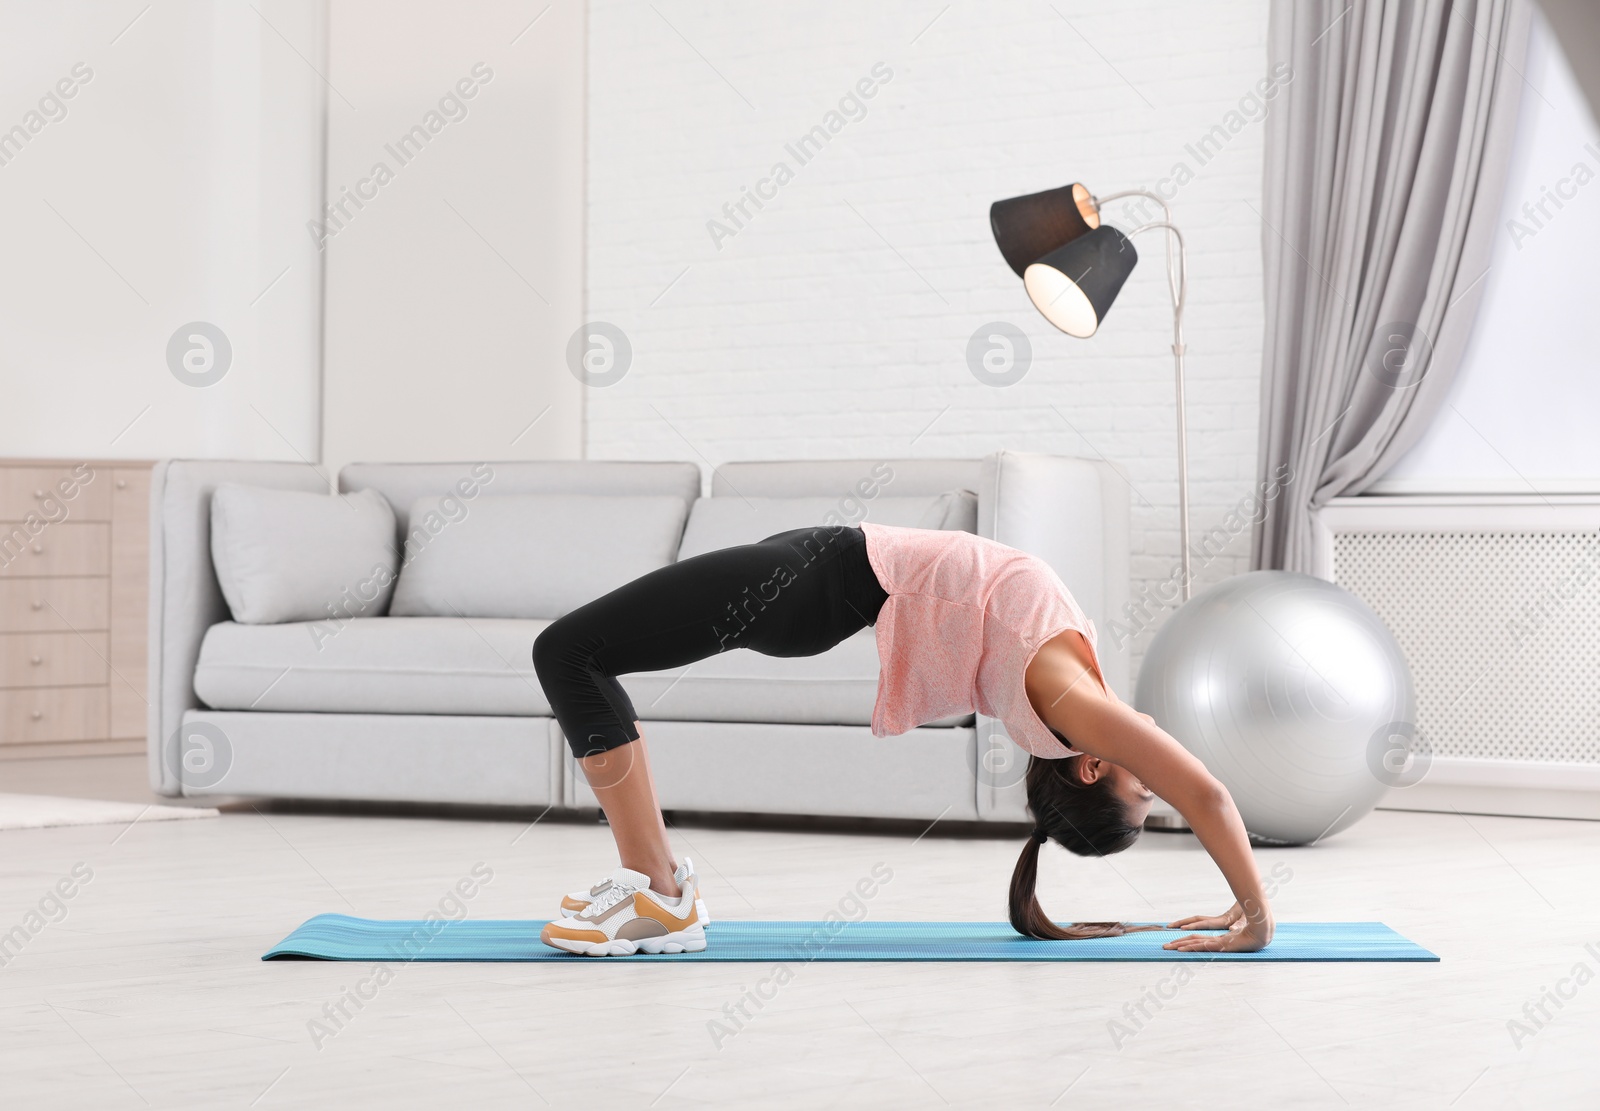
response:
{"label": "floor lamp with two black shades on a curved metal stand", "polygon": [[[1162,219],[1126,235],[1101,223],[1101,207],[1123,197],[1149,197]],[[1182,544],[1182,599],[1189,600],[1189,440],[1184,431],[1184,237],[1166,202],[1144,189],[1096,197],[1082,184],[997,200],[989,226],[1005,261],[1022,279],[1034,307],[1069,336],[1093,336],[1139,261],[1133,237],[1166,232],[1166,285],[1173,295],[1173,365],[1178,379],[1178,517]],[[1173,251],[1176,243],[1178,250]]]}

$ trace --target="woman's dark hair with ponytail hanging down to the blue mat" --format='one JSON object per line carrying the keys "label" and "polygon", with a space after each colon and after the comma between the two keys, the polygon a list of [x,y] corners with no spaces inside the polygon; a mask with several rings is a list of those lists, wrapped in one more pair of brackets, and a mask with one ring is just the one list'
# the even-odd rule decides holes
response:
{"label": "woman's dark hair with ponytail hanging down to the blue mat", "polygon": [[1038,904],[1034,887],[1038,880],[1038,847],[1045,840],[1053,839],[1078,856],[1107,856],[1120,853],[1139,839],[1139,826],[1128,821],[1126,807],[1112,794],[1110,783],[1078,780],[1077,768],[1082,759],[1082,756],[1064,760],[1029,757],[1027,808],[1034,815],[1034,834],[1022,847],[1022,855],[1016,858],[1010,901],[1011,929],[1022,937],[1077,941],[1158,929],[1122,922],[1058,925]]}

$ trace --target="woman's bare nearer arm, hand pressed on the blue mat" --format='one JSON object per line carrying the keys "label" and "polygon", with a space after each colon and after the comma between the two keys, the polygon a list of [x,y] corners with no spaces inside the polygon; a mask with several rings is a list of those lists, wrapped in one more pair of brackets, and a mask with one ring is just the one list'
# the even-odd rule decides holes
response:
{"label": "woman's bare nearer arm, hand pressed on the blue mat", "polygon": [[1101,685],[1080,634],[1064,632],[1040,647],[1027,668],[1026,685],[1040,717],[1072,741],[1072,748],[1126,768],[1171,804],[1234,890],[1238,901],[1222,916],[1230,922],[1229,933],[1186,937],[1166,948],[1253,951],[1266,946],[1272,940],[1272,909],[1245,823],[1227,788],[1147,714],[1118,701]]}

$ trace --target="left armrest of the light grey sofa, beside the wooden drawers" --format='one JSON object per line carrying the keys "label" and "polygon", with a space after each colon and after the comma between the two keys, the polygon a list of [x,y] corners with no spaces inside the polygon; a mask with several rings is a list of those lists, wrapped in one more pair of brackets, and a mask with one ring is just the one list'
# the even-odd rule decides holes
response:
{"label": "left armrest of the light grey sofa, beside the wooden drawers", "polygon": [[146,752],[150,788],[182,792],[171,751],[184,712],[200,704],[195,661],[206,629],[227,621],[227,602],[211,567],[211,493],[243,482],[326,493],[328,480],[302,463],[163,459],[150,472],[150,656]]}

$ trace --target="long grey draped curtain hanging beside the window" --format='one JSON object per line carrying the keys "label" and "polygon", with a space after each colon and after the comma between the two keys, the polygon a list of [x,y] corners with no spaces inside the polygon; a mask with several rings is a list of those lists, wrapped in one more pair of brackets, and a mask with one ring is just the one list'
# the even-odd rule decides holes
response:
{"label": "long grey draped curtain hanging beside the window", "polygon": [[1310,512],[1440,410],[1483,295],[1526,0],[1272,0],[1256,568],[1310,570]]}

